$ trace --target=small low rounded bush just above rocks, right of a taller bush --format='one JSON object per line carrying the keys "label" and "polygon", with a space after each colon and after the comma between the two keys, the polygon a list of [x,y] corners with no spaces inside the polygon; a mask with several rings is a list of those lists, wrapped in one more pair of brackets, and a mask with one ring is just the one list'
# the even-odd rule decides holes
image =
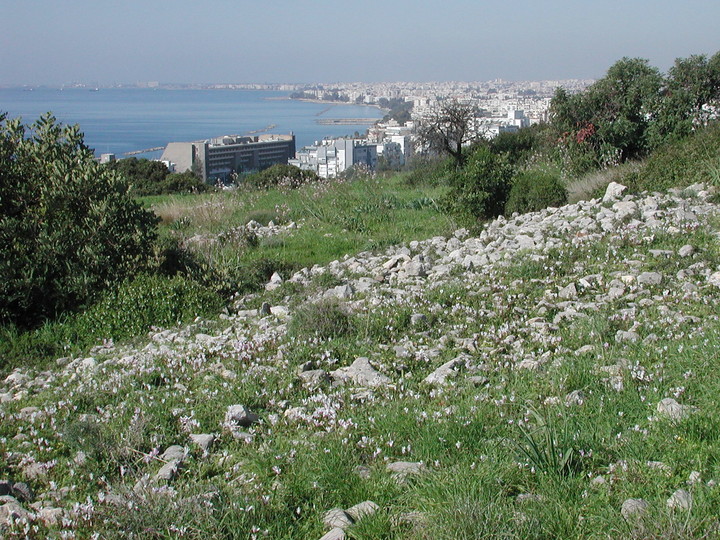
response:
{"label": "small low rounded bush just above rocks, right of a taller bush", "polygon": [[536,212],[548,206],[567,202],[567,189],[558,174],[548,171],[525,171],[513,180],[505,214]]}

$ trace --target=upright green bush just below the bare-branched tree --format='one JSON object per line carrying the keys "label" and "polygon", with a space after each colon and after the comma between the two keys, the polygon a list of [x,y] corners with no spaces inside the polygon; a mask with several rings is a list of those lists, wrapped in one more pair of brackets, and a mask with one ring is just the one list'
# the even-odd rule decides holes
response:
{"label": "upright green bush just below the bare-branched tree", "polygon": [[480,147],[462,170],[450,176],[450,191],[441,203],[447,212],[468,222],[499,216],[505,210],[511,178],[512,167],[505,159]]}

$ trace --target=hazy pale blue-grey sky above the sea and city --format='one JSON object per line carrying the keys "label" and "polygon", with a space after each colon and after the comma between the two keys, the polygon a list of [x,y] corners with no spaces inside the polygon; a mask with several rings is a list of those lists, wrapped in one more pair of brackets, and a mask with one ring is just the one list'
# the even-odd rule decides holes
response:
{"label": "hazy pale blue-grey sky above the sea and city", "polygon": [[719,0],[0,0],[0,85],[597,78],[720,50]]}

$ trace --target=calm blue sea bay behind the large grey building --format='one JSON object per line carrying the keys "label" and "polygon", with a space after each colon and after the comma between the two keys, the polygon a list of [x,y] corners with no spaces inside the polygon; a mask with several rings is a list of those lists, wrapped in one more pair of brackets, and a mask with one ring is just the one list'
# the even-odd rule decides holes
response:
{"label": "calm blue sea bay behind the large grey building", "polygon": [[[96,154],[165,146],[220,135],[294,132],[296,146],[323,137],[363,133],[367,125],[319,125],[319,118],[382,117],[374,107],[289,101],[284,92],[151,89],[0,89],[0,111],[33,122],[48,111],[65,124],[79,124]],[[275,99],[273,99],[275,98]],[[144,157],[158,157],[154,153]]]}

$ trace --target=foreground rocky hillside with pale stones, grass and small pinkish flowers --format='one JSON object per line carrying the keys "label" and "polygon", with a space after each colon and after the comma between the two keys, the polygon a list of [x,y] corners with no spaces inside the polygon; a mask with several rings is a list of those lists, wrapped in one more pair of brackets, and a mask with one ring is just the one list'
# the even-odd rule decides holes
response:
{"label": "foreground rocky hillside with pale stones, grass and small pinkish flowers", "polygon": [[718,534],[710,195],[611,184],[16,370],[0,384],[0,530]]}

